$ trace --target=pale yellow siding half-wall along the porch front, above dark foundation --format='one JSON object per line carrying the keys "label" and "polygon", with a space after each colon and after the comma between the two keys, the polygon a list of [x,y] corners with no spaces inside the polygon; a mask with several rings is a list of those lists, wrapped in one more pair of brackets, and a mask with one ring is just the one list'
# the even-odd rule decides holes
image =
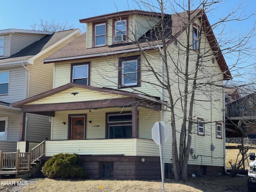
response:
{"label": "pale yellow siding half-wall along the porch front, above dark foundation", "polygon": [[[148,146],[148,148],[145,148],[144,146]],[[133,138],[45,141],[45,156],[54,156],[58,153],[77,153],[80,155],[159,156],[159,149],[152,140]]]}

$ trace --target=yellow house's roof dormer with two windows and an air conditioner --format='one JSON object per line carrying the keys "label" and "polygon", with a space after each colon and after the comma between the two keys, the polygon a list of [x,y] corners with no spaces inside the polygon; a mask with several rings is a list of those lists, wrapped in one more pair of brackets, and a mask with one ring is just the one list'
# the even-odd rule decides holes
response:
{"label": "yellow house's roof dormer with two windows and an air conditioner", "polygon": [[160,14],[140,10],[80,19],[86,24],[86,48],[134,42],[159,21]]}

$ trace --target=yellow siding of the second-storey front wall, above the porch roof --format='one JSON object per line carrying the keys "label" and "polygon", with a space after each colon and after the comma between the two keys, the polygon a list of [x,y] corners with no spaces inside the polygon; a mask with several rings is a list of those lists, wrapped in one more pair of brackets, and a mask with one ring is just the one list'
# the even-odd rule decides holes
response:
{"label": "yellow siding of the second-storey front wall, above the porch roof", "polygon": [[[133,54],[134,55],[134,54]],[[119,57],[131,56],[131,54],[120,55]],[[157,72],[162,73],[162,60],[159,59],[158,54],[148,52],[146,56],[150,60],[150,64],[156,69]],[[118,58],[117,57],[98,57],[80,62],[90,62],[90,86],[118,88]],[[55,82],[54,87],[62,86],[70,82],[71,63],[63,62],[55,65]],[[136,90],[141,91],[151,96],[162,98],[162,91],[158,87],[159,83],[151,72],[148,70],[148,64],[143,56],[141,56],[141,86]],[[132,91],[130,88],[120,89],[124,91]]]}

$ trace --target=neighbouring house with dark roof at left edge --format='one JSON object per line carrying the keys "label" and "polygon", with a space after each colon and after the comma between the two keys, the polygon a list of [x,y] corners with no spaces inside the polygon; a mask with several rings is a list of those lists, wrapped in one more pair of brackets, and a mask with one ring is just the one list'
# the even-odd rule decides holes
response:
{"label": "neighbouring house with dark roof at left edge", "polygon": [[[52,89],[54,66],[42,60],[82,33],[79,29],[62,32],[0,30],[0,150],[15,152],[20,138],[20,109],[12,103]],[[26,114],[23,141],[30,148],[50,138],[48,116]],[[27,145],[28,147],[28,145]],[[24,150],[28,150],[24,149]]]}

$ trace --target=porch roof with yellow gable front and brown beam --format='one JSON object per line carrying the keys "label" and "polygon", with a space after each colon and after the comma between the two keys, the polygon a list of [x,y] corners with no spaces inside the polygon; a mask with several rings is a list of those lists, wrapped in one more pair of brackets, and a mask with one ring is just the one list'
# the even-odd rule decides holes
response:
{"label": "porch roof with yellow gable front and brown beam", "polygon": [[154,110],[161,110],[162,104],[167,105],[168,103],[150,95],[68,83],[42,94],[13,103],[12,107],[21,108],[23,112],[54,116],[55,111],[62,110],[125,106],[142,106]]}

